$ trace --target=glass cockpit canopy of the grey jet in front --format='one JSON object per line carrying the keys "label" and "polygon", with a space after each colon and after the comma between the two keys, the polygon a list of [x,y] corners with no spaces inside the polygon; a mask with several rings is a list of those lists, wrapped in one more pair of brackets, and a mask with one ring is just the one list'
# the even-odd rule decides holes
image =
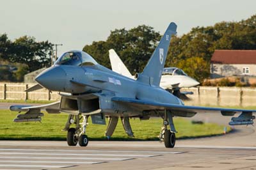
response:
{"label": "glass cockpit canopy of the grey jet in front", "polygon": [[62,54],[54,65],[73,65],[73,66],[88,66],[97,65],[98,63],[86,52],[79,50],[71,50]]}

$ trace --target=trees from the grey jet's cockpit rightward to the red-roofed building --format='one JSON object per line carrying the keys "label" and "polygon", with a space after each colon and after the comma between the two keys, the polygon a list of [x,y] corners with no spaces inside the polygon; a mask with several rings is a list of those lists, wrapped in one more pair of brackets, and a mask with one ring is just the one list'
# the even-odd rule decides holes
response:
{"label": "trees from the grey jet's cockpit rightward to the red-roofed building", "polygon": [[[179,26],[178,30],[179,31]],[[108,50],[114,49],[133,74],[142,72],[161,35],[150,26],[111,31],[106,41],[85,45],[83,50],[111,68]],[[256,15],[239,22],[219,22],[214,26],[194,27],[182,36],[173,36],[165,66],[182,68],[202,82],[210,75],[215,49],[256,49]]]}

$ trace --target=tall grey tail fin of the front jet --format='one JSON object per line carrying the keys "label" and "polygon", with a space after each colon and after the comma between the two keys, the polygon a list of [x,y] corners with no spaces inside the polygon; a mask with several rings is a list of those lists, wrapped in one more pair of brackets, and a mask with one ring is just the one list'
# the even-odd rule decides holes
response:
{"label": "tall grey tail fin of the front jet", "polygon": [[145,66],[143,72],[138,75],[137,81],[159,86],[170,41],[172,35],[177,33],[176,29],[177,25],[174,22],[171,22],[156,49],[154,50],[147,65]]}

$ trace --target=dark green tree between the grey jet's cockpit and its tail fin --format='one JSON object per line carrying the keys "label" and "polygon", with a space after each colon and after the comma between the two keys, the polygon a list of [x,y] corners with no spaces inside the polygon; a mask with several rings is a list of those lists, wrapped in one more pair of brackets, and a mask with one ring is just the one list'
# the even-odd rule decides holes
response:
{"label": "dark green tree between the grey jet's cockpit and its tail fin", "polygon": [[138,26],[130,30],[111,31],[106,42],[93,42],[83,50],[100,64],[111,68],[109,49],[114,49],[131,73],[141,72],[154,52],[161,36],[149,26]]}

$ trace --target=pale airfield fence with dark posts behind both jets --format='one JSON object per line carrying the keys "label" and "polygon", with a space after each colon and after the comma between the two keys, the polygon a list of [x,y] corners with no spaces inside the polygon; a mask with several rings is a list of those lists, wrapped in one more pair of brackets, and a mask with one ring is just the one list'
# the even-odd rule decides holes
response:
{"label": "pale airfield fence with dark posts behind both jets", "polygon": [[[1,100],[60,100],[58,92],[47,89],[38,89],[25,92],[25,89],[35,84],[28,83],[0,83]],[[192,91],[187,95],[189,100],[184,100],[187,105],[220,105],[220,106],[254,106],[256,101],[256,88],[237,87],[209,87],[187,88],[182,91]]]}

